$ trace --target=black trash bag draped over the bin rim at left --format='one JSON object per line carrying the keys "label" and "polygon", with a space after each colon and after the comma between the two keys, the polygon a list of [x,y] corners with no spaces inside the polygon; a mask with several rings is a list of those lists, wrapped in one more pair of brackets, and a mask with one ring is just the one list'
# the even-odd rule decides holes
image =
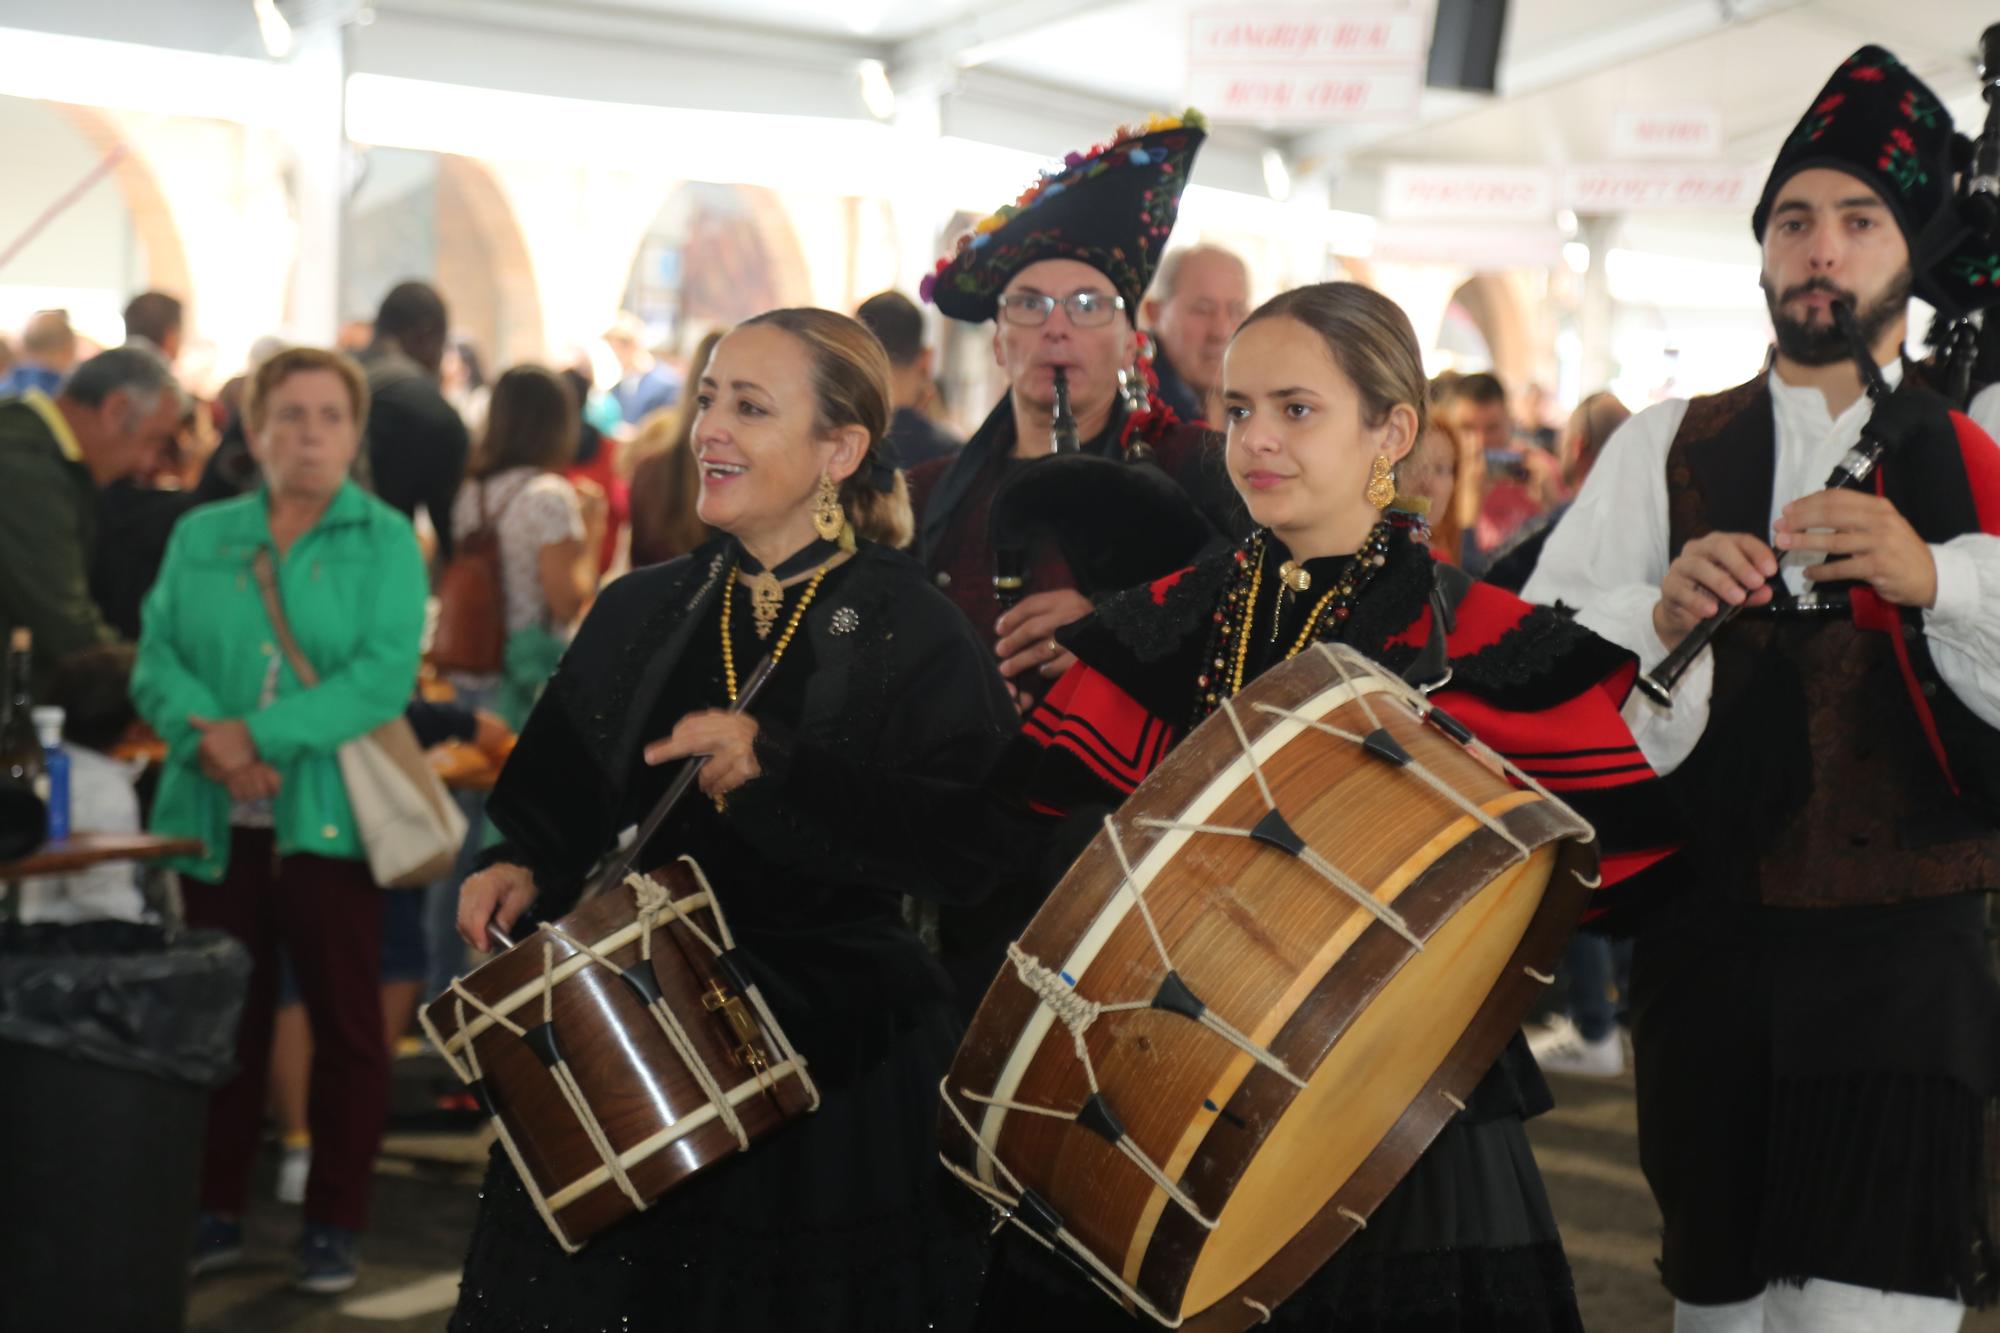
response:
{"label": "black trash bag draped over the bin rim at left", "polygon": [[220,1087],[236,1069],[250,951],[222,931],[88,921],[0,935],[0,1041]]}

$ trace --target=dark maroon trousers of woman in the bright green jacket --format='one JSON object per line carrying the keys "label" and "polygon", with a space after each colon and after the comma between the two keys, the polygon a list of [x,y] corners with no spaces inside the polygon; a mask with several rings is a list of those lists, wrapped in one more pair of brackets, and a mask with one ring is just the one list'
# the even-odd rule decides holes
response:
{"label": "dark maroon trousers of woman in the bright green jacket", "polygon": [[270,829],[236,829],[222,883],[188,879],[182,897],[190,927],[228,931],[250,949],[236,1077],[208,1105],[202,1209],[240,1217],[250,1197],[282,949],[312,1025],[306,1221],[358,1231],[368,1219],[376,1149],[388,1121],[382,889],[362,861],[280,859]]}

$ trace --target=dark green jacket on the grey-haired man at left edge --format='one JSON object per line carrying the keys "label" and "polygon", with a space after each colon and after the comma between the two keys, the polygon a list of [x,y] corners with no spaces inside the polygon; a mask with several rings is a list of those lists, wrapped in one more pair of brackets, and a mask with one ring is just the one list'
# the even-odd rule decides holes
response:
{"label": "dark green jacket on the grey-haired man at left edge", "polygon": [[34,630],[36,689],[60,658],[118,638],[90,600],[96,532],[90,468],[28,398],[0,398],[0,642],[18,624]]}

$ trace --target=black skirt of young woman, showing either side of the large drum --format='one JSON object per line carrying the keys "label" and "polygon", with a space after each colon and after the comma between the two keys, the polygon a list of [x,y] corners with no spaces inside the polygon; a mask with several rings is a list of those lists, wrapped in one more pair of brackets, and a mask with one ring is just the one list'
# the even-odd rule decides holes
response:
{"label": "black skirt of young woman, showing either side of the large drum", "polygon": [[[1338,1333],[1580,1331],[1576,1283],[1534,1165],[1522,1107],[1546,1093],[1518,1039],[1458,1115],[1318,1273],[1272,1311],[1270,1329]],[[1010,1227],[980,1297],[982,1331],[1050,1327],[1134,1333],[1080,1269]]]}

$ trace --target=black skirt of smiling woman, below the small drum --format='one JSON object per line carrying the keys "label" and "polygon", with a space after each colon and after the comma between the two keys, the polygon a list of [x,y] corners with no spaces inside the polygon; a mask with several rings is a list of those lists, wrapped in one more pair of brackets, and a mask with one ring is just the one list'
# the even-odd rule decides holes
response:
{"label": "black skirt of smiling woman, below the small drum", "polygon": [[924,1013],[888,1039],[886,1059],[822,1087],[814,1115],[576,1255],[496,1151],[452,1333],[964,1329],[986,1229],[936,1153],[956,1037],[942,1007]]}

